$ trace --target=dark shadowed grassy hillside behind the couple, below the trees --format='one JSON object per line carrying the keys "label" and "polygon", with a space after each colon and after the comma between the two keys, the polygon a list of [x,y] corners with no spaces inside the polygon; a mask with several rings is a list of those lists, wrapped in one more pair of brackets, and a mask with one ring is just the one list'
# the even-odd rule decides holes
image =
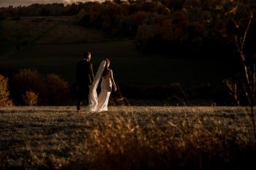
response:
{"label": "dark shadowed grassy hillside behind the couple, below the trees", "polygon": [[[0,72],[33,68],[56,73],[69,84],[75,82],[75,66],[83,53],[91,51],[94,72],[110,58],[116,82],[122,85],[168,85],[184,88],[201,84],[222,85],[233,75],[230,61],[192,56],[142,53],[132,39],[113,39],[102,32],[82,28],[73,18],[21,18],[1,21]],[[172,50],[172,49],[170,49]]]}

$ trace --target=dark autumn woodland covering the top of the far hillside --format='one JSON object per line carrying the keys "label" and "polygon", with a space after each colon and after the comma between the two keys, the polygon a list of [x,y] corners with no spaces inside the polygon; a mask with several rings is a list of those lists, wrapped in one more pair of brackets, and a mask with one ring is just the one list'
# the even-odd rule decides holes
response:
{"label": "dark autumn woodland covering the top of the far hillside", "polygon": [[[2,7],[0,16],[77,16],[76,24],[113,37],[135,39],[139,50],[191,57],[237,55],[233,36],[244,32],[255,1],[162,0],[31,4]],[[239,25],[239,26],[238,26]],[[255,18],[246,39],[246,55],[254,55]]]}

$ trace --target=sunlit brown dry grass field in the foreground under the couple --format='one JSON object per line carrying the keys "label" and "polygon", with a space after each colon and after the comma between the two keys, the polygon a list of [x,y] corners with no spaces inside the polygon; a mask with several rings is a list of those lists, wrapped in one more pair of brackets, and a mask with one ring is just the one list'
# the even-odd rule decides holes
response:
{"label": "sunlit brown dry grass field in the foreground under the couple", "polygon": [[[83,110],[85,110],[83,108]],[[0,169],[249,169],[246,107],[1,107]]]}

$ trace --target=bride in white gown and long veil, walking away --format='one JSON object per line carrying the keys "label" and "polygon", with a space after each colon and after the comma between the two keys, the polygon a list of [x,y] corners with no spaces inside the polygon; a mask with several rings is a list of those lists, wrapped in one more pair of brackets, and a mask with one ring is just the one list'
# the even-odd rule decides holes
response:
{"label": "bride in white gown and long veil, walking away", "polygon": [[[117,90],[116,83],[113,79],[113,71],[109,69],[110,60],[107,58],[102,61],[97,70],[97,74],[94,78],[94,82],[91,85],[89,93],[89,106],[90,112],[103,112],[108,111],[108,99],[112,90],[112,85],[114,91]],[[100,93],[97,96],[97,87],[99,85],[99,80],[102,79],[100,85]]]}

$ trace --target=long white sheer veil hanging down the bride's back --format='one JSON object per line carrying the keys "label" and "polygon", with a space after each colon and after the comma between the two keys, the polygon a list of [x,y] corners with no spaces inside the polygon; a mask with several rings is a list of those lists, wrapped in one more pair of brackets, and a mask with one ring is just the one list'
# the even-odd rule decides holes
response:
{"label": "long white sheer veil hanging down the bride's back", "polygon": [[97,87],[99,85],[99,80],[102,77],[102,73],[105,69],[107,61],[102,61],[99,65],[97,73],[94,77],[94,82],[91,85],[90,93],[89,93],[89,106],[88,109],[90,112],[95,112],[98,106],[98,96],[97,96]]}

